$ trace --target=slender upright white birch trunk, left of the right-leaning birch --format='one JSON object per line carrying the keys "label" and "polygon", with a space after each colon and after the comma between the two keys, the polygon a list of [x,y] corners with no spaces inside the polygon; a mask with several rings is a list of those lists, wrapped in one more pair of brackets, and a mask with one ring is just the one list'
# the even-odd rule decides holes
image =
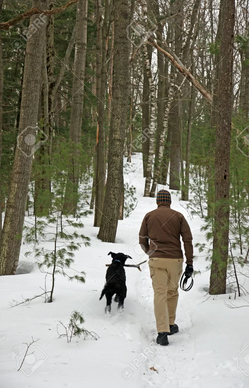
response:
{"label": "slender upright white birch trunk, left of the right-leaning birch", "polygon": [[145,177],[145,187],[144,187],[144,197],[149,197],[150,195],[150,183],[151,183],[151,173],[152,173],[152,164],[154,156],[154,144],[155,144],[155,131],[156,131],[156,88],[151,74],[149,55],[147,51],[147,43],[143,44],[144,52],[144,61],[147,70],[147,76],[149,79],[150,87],[150,137],[149,137],[149,154],[146,167],[146,177]]}

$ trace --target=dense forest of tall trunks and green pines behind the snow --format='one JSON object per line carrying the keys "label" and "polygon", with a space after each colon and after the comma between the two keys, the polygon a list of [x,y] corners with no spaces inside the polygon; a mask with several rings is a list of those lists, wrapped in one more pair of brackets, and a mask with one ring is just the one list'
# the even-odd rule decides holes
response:
{"label": "dense forest of tall trunks and green pines behind the snow", "polygon": [[36,240],[42,220],[94,211],[114,242],[135,207],[123,161],[142,152],[144,196],[168,184],[203,218],[209,293],[225,293],[249,255],[248,1],[0,0],[0,11],[0,275],[18,265],[25,215]]}

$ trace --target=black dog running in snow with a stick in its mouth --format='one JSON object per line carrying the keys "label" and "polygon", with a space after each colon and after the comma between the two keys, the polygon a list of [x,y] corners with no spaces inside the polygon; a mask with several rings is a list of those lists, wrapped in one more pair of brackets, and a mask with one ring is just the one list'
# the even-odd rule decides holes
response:
{"label": "black dog running in snow with a stick in its mouth", "polygon": [[105,275],[106,283],[99,298],[99,300],[102,299],[104,295],[106,297],[105,313],[107,311],[111,312],[112,296],[114,294],[116,294],[114,301],[118,302],[118,309],[124,309],[127,288],[123,266],[128,258],[131,259],[131,256],[124,255],[123,253],[109,252],[108,255],[112,256],[112,263],[107,268]]}

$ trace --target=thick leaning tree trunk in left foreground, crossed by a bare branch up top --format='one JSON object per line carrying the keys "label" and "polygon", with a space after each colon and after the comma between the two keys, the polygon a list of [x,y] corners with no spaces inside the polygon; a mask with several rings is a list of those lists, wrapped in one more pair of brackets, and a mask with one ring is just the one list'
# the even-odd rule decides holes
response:
{"label": "thick leaning tree trunk in left foreground, crossed by a bare branch up top", "polygon": [[[34,0],[33,7],[47,9],[48,0]],[[36,18],[31,16],[30,25]],[[18,142],[0,242],[0,275],[14,274],[18,265],[33,153],[39,145],[34,140],[45,29],[46,24],[40,26],[26,45]]]}

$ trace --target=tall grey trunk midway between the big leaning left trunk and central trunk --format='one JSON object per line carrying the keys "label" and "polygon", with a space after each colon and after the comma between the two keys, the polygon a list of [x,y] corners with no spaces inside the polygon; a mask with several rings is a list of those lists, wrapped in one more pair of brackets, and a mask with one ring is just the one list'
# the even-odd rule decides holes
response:
{"label": "tall grey trunk midway between the big leaning left trunk and central trunk", "polygon": [[76,40],[73,69],[73,91],[70,112],[70,143],[72,150],[71,166],[64,197],[64,214],[75,214],[78,203],[80,178],[81,124],[83,113],[84,76],[86,62],[87,0],[79,0],[76,17]]}

